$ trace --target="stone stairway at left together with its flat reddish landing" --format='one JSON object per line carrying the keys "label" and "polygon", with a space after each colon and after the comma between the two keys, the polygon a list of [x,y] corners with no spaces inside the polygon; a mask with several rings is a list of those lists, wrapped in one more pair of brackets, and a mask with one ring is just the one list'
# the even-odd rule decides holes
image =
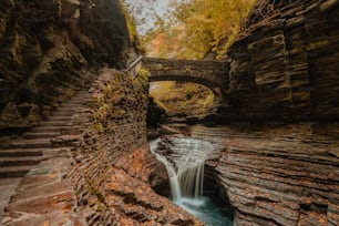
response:
{"label": "stone stairway at left together with its flat reddish landing", "polygon": [[[80,137],[79,121],[88,120],[80,111],[88,95],[88,91],[79,92],[39,126],[19,137],[2,140],[1,225],[34,225],[39,220],[49,222],[44,215],[71,212],[65,206],[72,206],[74,194],[70,182],[63,178],[72,163],[70,152]],[[62,217],[65,216],[71,215]]]}

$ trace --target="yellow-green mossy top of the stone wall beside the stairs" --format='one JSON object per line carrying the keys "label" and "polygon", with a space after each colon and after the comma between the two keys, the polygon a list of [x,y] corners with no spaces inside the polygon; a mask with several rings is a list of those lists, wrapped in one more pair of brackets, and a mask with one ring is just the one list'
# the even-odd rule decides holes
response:
{"label": "yellow-green mossy top of the stone wall beside the stairs", "polygon": [[93,127],[102,134],[112,130],[112,125],[133,122],[134,117],[143,114],[147,106],[148,72],[138,71],[135,79],[123,73],[113,72],[110,80],[96,84],[100,92],[93,102]]}

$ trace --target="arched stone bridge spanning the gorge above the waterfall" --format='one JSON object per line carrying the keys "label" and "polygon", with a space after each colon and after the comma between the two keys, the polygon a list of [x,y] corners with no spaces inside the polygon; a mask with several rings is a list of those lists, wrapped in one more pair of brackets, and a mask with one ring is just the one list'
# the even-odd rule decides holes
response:
{"label": "arched stone bridge spanning the gorge above the waterfall", "polygon": [[222,100],[228,90],[229,62],[202,60],[174,60],[143,58],[143,66],[150,73],[150,82],[193,82],[209,88]]}

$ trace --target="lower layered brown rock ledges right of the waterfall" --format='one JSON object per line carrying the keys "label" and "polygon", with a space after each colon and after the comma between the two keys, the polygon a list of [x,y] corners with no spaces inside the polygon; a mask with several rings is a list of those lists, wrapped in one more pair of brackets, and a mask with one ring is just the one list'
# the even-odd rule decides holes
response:
{"label": "lower layered brown rock ledges right of the waterfall", "polygon": [[[225,150],[207,161],[236,225],[338,225],[338,123],[196,126]],[[217,157],[219,155],[219,157]]]}

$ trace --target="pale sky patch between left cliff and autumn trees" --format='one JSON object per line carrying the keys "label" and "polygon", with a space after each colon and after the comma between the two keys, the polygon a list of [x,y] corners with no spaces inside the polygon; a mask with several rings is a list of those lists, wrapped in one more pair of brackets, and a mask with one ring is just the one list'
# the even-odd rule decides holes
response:
{"label": "pale sky patch between left cliff and autumn trees", "polygon": [[153,27],[156,14],[162,17],[174,0],[124,0],[132,16],[136,20],[140,34],[145,34]]}

